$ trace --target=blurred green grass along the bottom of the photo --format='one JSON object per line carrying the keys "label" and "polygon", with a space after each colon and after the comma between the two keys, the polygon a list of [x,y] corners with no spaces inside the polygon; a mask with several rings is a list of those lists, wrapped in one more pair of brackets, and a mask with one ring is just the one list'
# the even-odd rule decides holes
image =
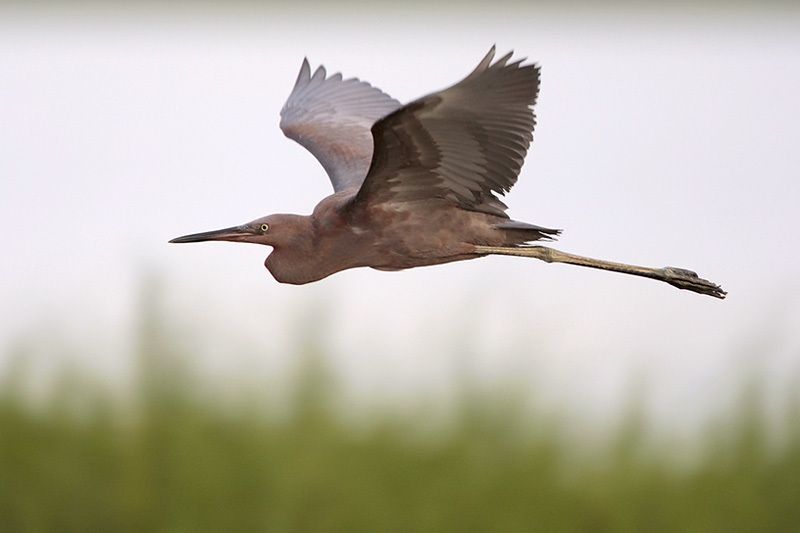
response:
{"label": "blurred green grass along the bottom of the photo", "polygon": [[800,530],[800,411],[773,438],[757,394],[690,465],[645,445],[636,409],[587,454],[551,418],[469,386],[437,431],[424,413],[356,427],[331,409],[309,342],[275,416],[244,393],[214,401],[151,311],[128,393],[65,371],[33,401],[24,364],[6,369],[1,531]]}

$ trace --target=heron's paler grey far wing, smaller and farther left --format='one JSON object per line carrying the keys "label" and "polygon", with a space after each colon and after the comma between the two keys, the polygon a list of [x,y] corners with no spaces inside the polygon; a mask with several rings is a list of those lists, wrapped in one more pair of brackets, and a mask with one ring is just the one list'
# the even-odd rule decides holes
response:
{"label": "heron's paler grey far wing, smaller and farther left", "polygon": [[341,74],[311,75],[303,60],[292,94],[281,109],[281,129],[316,157],[335,191],[359,187],[372,160],[370,128],[400,102],[369,83]]}

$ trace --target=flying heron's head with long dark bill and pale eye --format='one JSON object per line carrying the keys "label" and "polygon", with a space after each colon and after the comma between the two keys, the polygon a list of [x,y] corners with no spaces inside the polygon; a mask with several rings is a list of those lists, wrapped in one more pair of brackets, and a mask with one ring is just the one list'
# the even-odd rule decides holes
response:
{"label": "flying heron's head with long dark bill and pale eye", "polygon": [[241,226],[176,237],[169,242],[231,241],[250,242],[266,246],[290,244],[306,234],[308,217],[299,215],[267,215]]}

